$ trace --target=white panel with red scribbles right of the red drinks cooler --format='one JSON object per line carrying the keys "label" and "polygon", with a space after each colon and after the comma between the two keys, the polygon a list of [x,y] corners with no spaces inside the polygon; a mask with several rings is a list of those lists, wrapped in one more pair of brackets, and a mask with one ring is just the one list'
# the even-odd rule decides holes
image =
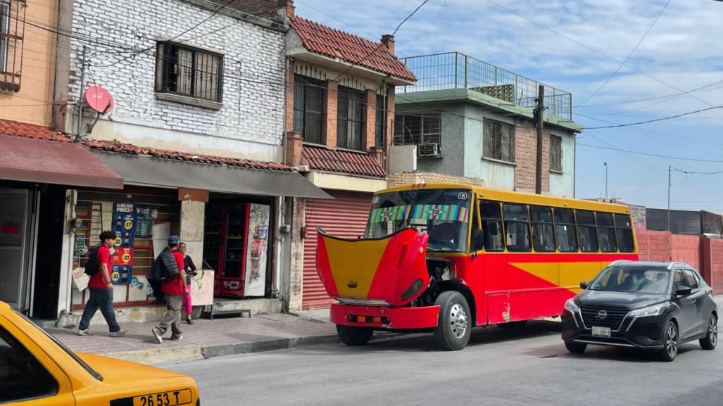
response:
{"label": "white panel with red scribbles right of the red drinks cooler", "polygon": [[246,286],[244,295],[263,296],[266,288],[266,254],[268,253],[268,204],[249,204],[249,234],[247,236]]}

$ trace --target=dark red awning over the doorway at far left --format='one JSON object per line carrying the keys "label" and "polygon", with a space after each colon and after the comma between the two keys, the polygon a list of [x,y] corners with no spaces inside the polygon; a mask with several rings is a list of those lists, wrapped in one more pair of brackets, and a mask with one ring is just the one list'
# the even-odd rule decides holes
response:
{"label": "dark red awning over the doorway at far left", "polygon": [[123,178],[80,144],[1,134],[0,179],[123,189]]}

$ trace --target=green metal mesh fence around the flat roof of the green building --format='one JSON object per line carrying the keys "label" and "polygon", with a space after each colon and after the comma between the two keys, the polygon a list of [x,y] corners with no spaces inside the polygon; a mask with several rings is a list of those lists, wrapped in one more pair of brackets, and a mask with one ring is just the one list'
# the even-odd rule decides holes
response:
{"label": "green metal mesh fence around the flat roof of the green building", "polygon": [[[458,52],[410,56],[401,60],[414,72],[417,82],[414,86],[397,87],[397,93],[471,89],[514,105],[535,108],[538,87],[544,85]],[[544,85],[544,94],[547,116],[572,120],[573,96],[570,93]]]}

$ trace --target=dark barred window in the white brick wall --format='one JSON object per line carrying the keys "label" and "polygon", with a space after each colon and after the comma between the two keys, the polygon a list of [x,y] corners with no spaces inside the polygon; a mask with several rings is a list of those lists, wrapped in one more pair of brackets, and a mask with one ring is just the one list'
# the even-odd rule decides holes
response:
{"label": "dark barred window in the white brick wall", "polygon": [[178,43],[159,42],[155,91],[221,103],[223,55]]}

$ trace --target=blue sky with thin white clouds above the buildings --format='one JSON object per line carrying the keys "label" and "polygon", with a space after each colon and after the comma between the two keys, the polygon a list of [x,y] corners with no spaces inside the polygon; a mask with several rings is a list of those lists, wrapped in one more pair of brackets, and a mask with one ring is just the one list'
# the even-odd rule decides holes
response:
{"label": "blue sky with thin white clouds above the buildings", "polygon": [[[421,2],[294,3],[302,17],[379,40]],[[399,57],[458,51],[571,92],[573,119],[586,128],[723,106],[723,1],[430,0],[395,40]],[[577,142],[578,198],[604,196],[607,163],[609,197],[665,208],[671,166],[671,209],[723,214],[723,108],[588,129]]]}

